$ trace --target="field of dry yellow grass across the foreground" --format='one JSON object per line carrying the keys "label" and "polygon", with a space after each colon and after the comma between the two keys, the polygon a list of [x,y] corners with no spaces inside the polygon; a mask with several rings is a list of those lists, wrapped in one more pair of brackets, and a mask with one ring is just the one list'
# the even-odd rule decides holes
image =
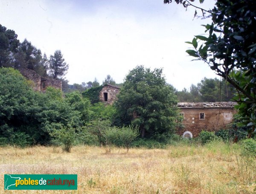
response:
{"label": "field of dry yellow grass across the foreground", "polygon": [[[77,191],[4,191],[3,174],[78,174]],[[250,194],[256,162],[238,145],[160,149],[0,148],[0,193]]]}

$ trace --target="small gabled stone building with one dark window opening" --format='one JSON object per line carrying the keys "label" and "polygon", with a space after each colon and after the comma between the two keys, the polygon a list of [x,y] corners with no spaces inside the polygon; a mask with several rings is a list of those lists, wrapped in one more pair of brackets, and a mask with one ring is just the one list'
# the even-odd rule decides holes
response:
{"label": "small gabled stone building with one dark window opening", "polygon": [[99,101],[103,101],[106,104],[113,104],[116,100],[116,95],[120,92],[120,88],[105,84],[102,90],[99,92]]}

